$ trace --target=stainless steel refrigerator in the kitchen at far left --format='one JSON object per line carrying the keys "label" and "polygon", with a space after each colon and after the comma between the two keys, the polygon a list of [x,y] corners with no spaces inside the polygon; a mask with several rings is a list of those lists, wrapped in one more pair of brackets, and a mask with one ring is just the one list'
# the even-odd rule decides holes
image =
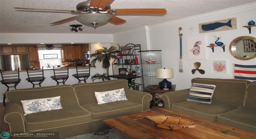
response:
{"label": "stainless steel refrigerator in the kitchen at far left", "polygon": [[2,70],[26,70],[30,69],[28,54],[2,55]]}

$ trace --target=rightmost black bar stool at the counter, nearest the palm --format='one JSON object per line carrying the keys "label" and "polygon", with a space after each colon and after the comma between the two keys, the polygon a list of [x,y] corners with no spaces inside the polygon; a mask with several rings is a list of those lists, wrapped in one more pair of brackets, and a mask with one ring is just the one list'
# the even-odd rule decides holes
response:
{"label": "rightmost black bar stool at the counter, nearest the palm", "polygon": [[[72,76],[78,79],[78,83],[81,83],[81,81],[84,81],[86,83],[86,80],[90,77],[90,68],[91,64],[89,67],[85,68],[77,68],[77,74],[73,74]],[[80,78],[83,78],[82,80]]]}

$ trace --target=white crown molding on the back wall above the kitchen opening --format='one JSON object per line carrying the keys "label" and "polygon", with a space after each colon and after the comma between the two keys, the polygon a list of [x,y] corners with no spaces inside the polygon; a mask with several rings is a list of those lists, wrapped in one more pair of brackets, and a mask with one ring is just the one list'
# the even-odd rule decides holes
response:
{"label": "white crown molding on the back wall above the kitchen opening", "polygon": [[20,36],[20,37],[113,37],[112,34],[62,34],[62,33],[0,33],[0,36]]}

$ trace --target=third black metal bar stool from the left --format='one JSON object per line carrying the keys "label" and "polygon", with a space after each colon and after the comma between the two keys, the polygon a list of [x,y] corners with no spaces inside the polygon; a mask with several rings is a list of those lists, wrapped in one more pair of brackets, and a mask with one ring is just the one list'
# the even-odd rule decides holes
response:
{"label": "third black metal bar stool from the left", "polygon": [[57,85],[59,85],[59,83],[63,83],[63,85],[65,85],[65,81],[69,78],[69,66],[67,66],[66,69],[56,69],[53,66],[53,73],[54,76],[51,76],[51,78],[57,82]]}

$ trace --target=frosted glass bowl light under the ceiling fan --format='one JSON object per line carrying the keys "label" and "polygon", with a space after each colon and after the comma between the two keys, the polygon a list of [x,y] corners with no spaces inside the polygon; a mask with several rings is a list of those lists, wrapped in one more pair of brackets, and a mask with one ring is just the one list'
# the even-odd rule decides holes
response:
{"label": "frosted glass bowl light under the ceiling fan", "polygon": [[112,18],[111,15],[103,13],[86,13],[77,16],[77,21],[82,24],[96,25],[99,23],[105,23]]}

